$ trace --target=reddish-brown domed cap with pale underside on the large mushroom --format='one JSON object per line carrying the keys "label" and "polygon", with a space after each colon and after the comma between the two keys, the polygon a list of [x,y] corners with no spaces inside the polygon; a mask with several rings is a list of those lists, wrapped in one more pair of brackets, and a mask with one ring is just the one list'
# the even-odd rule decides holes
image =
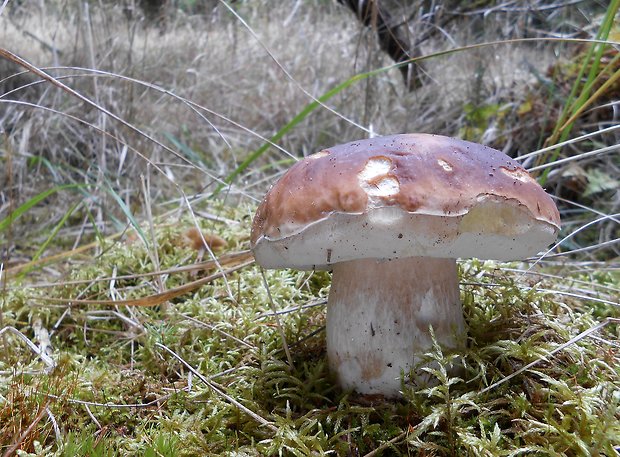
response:
{"label": "reddish-brown domed cap with pale underside on the large mushroom", "polygon": [[265,268],[416,256],[511,260],[547,247],[559,227],[551,197],[504,153],[403,134],[297,162],[258,207],[251,247]]}

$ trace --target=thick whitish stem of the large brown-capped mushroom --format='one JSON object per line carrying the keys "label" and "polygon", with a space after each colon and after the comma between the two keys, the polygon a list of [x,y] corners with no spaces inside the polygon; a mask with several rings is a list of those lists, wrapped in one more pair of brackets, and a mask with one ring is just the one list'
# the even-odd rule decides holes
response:
{"label": "thick whitish stem of the large brown-capped mushroom", "polygon": [[343,389],[398,397],[401,371],[432,347],[465,345],[456,261],[363,259],[334,265],[327,354]]}

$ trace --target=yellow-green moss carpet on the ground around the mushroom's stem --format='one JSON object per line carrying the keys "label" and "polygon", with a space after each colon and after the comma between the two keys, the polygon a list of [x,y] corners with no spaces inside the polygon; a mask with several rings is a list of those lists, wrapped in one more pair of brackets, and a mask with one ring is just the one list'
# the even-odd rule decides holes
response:
{"label": "yellow-green moss carpet on the ground around the mushroom's stem", "polygon": [[[251,208],[216,211],[241,223],[204,221],[204,231],[223,237],[225,251],[246,249]],[[179,241],[191,222],[159,227],[160,269],[192,264],[196,252]],[[4,325],[39,344],[41,331],[33,328],[47,329],[56,367],[38,371],[41,361],[4,334],[0,451],[29,427],[20,455],[612,457],[620,445],[620,326],[606,320],[617,308],[605,299],[617,294],[617,273],[567,264],[540,276],[524,273],[525,265],[462,262],[467,350],[434,348],[434,363],[420,369],[436,383],[404,386],[405,400],[385,401],[334,386],[322,331],[328,273],[265,272],[293,367],[256,265],[166,307],[71,304],[76,297],[124,299],[158,290],[155,277],[135,276],[154,270],[149,249],[128,239],[72,260],[69,277],[78,283],[9,282]],[[127,274],[134,276],[101,279]],[[181,271],[162,282],[171,289],[206,274]],[[455,364],[464,367],[460,377],[450,377]]]}

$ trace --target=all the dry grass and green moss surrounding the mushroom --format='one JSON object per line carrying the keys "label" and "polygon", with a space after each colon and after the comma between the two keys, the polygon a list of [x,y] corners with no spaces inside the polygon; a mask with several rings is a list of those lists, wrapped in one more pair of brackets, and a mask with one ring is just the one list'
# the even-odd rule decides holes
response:
{"label": "all the dry grass and green moss surrounding the mushroom", "polygon": [[[335,1],[1,2],[0,453],[616,455],[619,3],[386,2],[408,90]],[[329,275],[263,277],[249,227],[299,157],[414,131],[519,157],[563,229],[461,262],[467,350],[386,402],[333,386]]]}

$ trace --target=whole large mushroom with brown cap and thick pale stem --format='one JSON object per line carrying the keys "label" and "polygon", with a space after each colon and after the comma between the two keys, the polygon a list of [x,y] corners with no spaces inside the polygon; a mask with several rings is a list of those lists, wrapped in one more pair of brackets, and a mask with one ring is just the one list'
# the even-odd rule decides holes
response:
{"label": "whole large mushroom with brown cap and thick pale stem", "polygon": [[401,395],[432,346],[463,348],[456,258],[512,260],[552,243],[553,200],[495,149],[429,134],[355,141],[297,162],[252,225],[265,268],[332,270],[327,356],[343,389]]}

